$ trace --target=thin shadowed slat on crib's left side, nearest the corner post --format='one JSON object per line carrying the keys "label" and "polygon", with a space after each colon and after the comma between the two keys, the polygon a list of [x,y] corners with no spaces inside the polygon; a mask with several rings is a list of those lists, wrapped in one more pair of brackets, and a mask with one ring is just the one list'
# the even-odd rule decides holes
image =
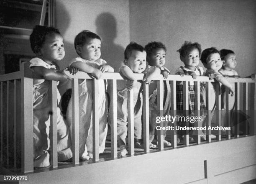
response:
{"label": "thin shadowed slat on crib's left side, nearest the corner post", "polygon": [[14,168],[16,168],[16,80],[13,81],[13,157]]}

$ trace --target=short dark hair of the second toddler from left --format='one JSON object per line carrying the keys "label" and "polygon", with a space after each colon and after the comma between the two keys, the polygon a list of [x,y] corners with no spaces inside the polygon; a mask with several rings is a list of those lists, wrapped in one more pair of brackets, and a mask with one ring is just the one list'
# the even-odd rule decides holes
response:
{"label": "short dark hair of the second toddler from left", "polygon": [[97,35],[96,33],[92,33],[91,31],[88,31],[88,30],[83,30],[80,33],[78,33],[78,35],[74,39],[75,50],[77,51],[77,46],[78,45],[84,45],[84,43],[86,43],[88,38],[92,38],[92,39],[96,38],[96,39],[99,39],[101,41],[100,36]]}

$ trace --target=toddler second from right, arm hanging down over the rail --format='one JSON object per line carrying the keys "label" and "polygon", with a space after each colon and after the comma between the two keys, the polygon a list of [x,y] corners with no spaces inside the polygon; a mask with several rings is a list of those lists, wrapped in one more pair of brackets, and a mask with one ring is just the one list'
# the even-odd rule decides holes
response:
{"label": "toddler second from right, arm hanging down over the rail", "polygon": [[220,58],[220,52],[215,48],[211,47],[208,49],[205,49],[202,51],[201,56],[202,64],[207,69],[206,76],[208,76],[210,79],[214,79],[215,83],[211,83],[210,85],[210,109],[212,109],[212,112],[210,114],[211,118],[213,117],[214,110],[215,110],[215,93],[216,93],[216,85],[220,85],[219,82],[224,85],[225,87],[228,87],[229,92],[231,92],[231,96],[234,95],[234,89],[233,86],[223,77],[223,75],[219,72],[223,65],[223,61]]}

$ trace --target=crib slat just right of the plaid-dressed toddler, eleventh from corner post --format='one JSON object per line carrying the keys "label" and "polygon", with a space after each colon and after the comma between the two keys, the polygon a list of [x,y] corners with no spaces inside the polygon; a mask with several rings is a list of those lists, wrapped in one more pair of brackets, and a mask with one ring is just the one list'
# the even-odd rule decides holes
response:
{"label": "crib slat just right of the plaid-dressed toddler, eleventh from corner post", "polygon": [[206,98],[206,102],[205,102],[205,105],[206,105],[206,109],[207,109],[207,116],[205,117],[205,118],[207,118],[206,119],[206,141],[208,142],[208,143],[210,143],[212,140],[211,140],[211,130],[209,129],[208,130],[208,128],[209,128],[209,126],[211,126],[211,111],[212,111],[212,109],[211,109],[211,107],[210,107],[210,98],[211,98],[211,93],[210,93],[210,85],[212,85],[211,84],[211,82],[207,82],[206,83],[206,86],[205,86],[205,98]]}

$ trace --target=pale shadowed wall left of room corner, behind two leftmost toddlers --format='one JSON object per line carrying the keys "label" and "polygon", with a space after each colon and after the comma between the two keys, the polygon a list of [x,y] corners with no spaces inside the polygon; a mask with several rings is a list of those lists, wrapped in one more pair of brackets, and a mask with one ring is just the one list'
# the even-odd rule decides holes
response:
{"label": "pale shadowed wall left of room corner, behind two leftmost toddlers", "polygon": [[66,51],[61,66],[67,66],[77,56],[75,36],[90,30],[102,38],[101,58],[115,70],[120,67],[124,48],[130,41],[128,0],[56,0],[55,21]]}

